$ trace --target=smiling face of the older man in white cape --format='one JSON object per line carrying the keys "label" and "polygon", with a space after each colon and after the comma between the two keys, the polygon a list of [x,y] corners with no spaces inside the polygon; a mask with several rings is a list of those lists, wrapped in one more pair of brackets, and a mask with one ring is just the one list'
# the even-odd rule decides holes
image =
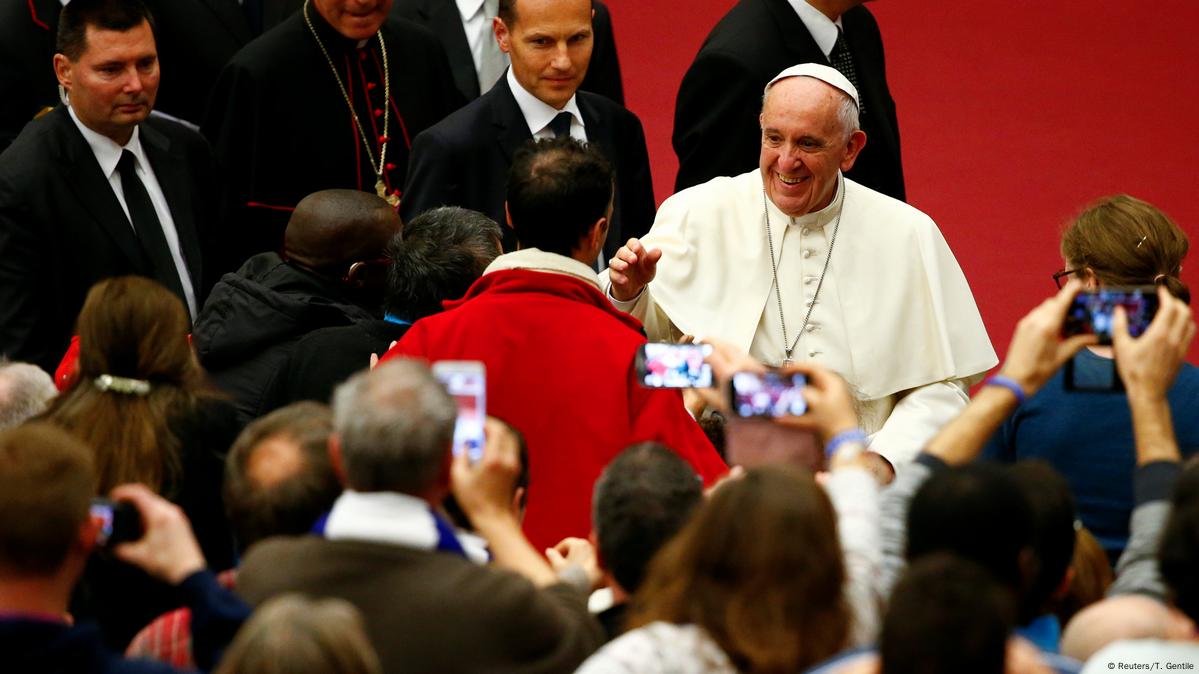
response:
{"label": "smiling face of the older man in white cape", "polygon": [[846,130],[839,110],[845,95],[811,77],[791,77],[771,88],[761,109],[758,167],[766,195],[788,216],[829,205],[837,171],[849,170],[866,134]]}

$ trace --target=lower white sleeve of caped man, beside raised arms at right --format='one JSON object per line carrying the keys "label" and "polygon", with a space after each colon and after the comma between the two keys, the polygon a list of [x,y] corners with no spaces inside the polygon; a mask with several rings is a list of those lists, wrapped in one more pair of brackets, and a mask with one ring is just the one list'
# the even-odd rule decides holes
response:
{"label": "lower white sleeve of caped man, beside raised arms at right", "polygon": [[969,389],[962,379],[912,389],[896,403],[882,428],[870,438],[870,450],[882,455],[893,467],[909,463],[969,403]]}

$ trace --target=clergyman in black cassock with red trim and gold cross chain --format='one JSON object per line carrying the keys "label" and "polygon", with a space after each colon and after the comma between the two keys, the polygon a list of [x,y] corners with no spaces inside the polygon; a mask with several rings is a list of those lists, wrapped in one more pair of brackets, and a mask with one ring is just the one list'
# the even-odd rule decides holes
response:
{"label": "clergyman in black cassock with red trim and gold cross chain", "polygon": [[277,251],[287,213],[320,189],[399,201],[412,138],[462,103],[428,30],[392,0],[303,0],[237,52],[201,128],[225,175],[231,271]]}

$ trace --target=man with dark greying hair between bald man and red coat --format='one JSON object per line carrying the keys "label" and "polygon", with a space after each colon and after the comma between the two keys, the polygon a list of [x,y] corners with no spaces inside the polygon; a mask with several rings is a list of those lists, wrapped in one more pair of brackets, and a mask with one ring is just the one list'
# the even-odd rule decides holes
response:
{"label": "man with dark greying hair between bald man and red coat", "polygon": [[327,402],[336,387],[404,336],[408,326],[457,300],[500,254],[500,225],[483,213],[442,206],[404,223],[387,246],[381,319],[323,327],[296,343],[279,372],[271,407]]}

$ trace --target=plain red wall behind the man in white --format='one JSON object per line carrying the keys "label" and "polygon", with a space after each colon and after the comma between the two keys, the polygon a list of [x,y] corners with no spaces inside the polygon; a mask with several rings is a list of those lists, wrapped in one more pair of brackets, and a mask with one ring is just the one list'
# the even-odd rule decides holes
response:
{"label": "plain red wall behind the man in white", "polygon": [[[661,201],[677,168],[679,82],[734,1],[608,5]],[[1054,291],[1059,234],[1089,201],[1127,192],[1199,233],[1199,2],[869,8],[886,43],[909,201],[940,224],[1001,357],[1016,321]],[[1195,254],[1182,278],[1199,291]]]}

